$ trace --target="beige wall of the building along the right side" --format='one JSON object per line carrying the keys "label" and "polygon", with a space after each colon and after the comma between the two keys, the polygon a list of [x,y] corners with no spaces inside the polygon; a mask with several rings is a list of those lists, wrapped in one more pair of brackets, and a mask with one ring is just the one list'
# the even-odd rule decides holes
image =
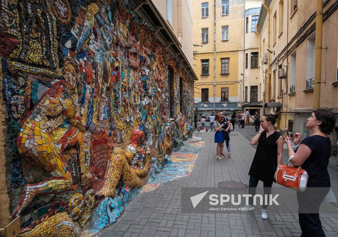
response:
{"label": "beige wall of the building along the right side", "polygon": [[[333,4],[333,0],[329,1],[324,6],[324,12]],[[284,0],[284,16],[283,16],[283,30],[280,29],[280,1],[271,1],[271,49],[275,54],[270,54],[271,57],[271,99],[282,103],[282,111],[312,111],[313,108],[313,90],[306,90],[306,71],[309,69],[307,65],[308,39],[314,32],[312,32],[303,42],[297,47],[293,47],[295,42],[299,40],[302,35],[315,23],[315,19],[298,35],[295,41],[288,47],[288,54],[282,50],[287,43],[291,41],[294,35],[301,27],[308,21],[310,16],[316,11],[316,4],[309,4],[309,1],[298,1],[297,10],[293,12],[293,7],[287,5],[288,1]],[[289,4],[290,1],[289,1]],[[273,42],[273,15],[276,14],[276,43]],[[337,107],[336,100],[332,99],[338,93],[338,87],[333,86],[333,82],[337,77],[337,41],[338,41],[338,11],[335,11],[327,20],[323,22],[322,47],[327,48],[322,51],[322,71],[321,71],[321,93],[320,93],[320,107],[335,108]],[[262,54],[267,52],[267,18],[265,21],[259,22],[263,25],[261,33],[261,43],[265,41],[265,46],[262,45]],[[281,34],[280,32],[283,31]],[[291,54],[296,54],[296,63],[291,62]],[[278,61],[275,58],[278,57]],[[287,70],[287,78],[278,79],[278,65]],[[287,66],[284,66],[287,65]],[[313,67],[313,66],[312,66]],[[265,70],[267,65],[263,65]],[[295,81],[291,81],[291,71],[295,70]],[[276,70],[276,79],[274,77],[274,70]],[[279,85],[281,80],[282,86]],[[261,78],[262,81],[262,78]],[[323,83],[325,82],[325,83]],[[290,86],[295,85],[295,93],[290,93]],[[283,90],[283,95],[280,93]],[[268,102],[268,101],[267,101]],[[296,114],[281,114],[280,119],[277,120],[277,128],[284,129],[288,127],[289,121],[294,121],[293,132],[300,132],[302,134],[303,123],[306,123],[306,118],[310,115],[300,116]]]}

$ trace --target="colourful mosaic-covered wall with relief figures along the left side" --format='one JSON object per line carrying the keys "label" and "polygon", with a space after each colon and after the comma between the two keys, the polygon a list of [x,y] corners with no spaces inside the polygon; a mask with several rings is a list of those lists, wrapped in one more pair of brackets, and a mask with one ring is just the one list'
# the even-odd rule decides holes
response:
{"label": "colourful mosaic-covered wall with relief figures along the left side", "polygon": [[193,80],[128,1],[0,1],[10,212],[20,236],[90,236],[189,137]]}

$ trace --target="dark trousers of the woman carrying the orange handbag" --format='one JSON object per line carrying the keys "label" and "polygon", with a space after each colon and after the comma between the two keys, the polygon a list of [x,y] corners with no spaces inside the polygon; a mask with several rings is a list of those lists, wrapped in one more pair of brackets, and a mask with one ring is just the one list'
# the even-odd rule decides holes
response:
{"label": "dark trousers of the woman carrying the orange handbag", "polygon": [[[317,188],[318,190],[316,190],[313,186],[315,185],[309,185],[308,183],[308,187],[305,192],[297,192],[301,237],[325,237],[319,219],[319,207],[323,202],[324,197],[330,191],[330,188]],[[324,184],[320,184],[320,186],[330,187],[330,180]],[[310,210],[312,213],[305,213],[306,210]]]}

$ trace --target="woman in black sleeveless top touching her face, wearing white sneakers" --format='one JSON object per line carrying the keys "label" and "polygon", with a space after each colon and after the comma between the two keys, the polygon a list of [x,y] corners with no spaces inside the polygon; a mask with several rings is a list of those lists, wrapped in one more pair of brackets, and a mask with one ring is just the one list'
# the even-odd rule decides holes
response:
{"label": "woman in black sleeveless top touching her face, wearing white sneakers", "polygon": [[[252,138],[251,144],[258,143],[254,160],[249,170],[249,205],[242,212],[253,208],[253,196],[256,194],[258,181],[263,182],[264,194],[271,194],[271,187],[276,177],[277,167],[282,164],[283,137],[273,127],[278,115],[265,114],[262,116],[260,131]],[[265,196],[265,195],[264,195]],[[265,200],[263,201],[265,203]],[[267,205],[262,206],[261,217],[267,219]]]}

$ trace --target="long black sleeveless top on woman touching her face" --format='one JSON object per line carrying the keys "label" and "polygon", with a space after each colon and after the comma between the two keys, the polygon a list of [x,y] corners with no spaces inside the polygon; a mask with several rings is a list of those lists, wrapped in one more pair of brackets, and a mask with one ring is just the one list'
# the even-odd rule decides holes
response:
{"label": "long black sleeveless top on woman touching her face", "polygon": [[277,168],[277,140],[282,136],[276,131],[266,138],[266,131],[258,140],[254,160],[249,175],[263,182],[274,182],[273,175]]}

